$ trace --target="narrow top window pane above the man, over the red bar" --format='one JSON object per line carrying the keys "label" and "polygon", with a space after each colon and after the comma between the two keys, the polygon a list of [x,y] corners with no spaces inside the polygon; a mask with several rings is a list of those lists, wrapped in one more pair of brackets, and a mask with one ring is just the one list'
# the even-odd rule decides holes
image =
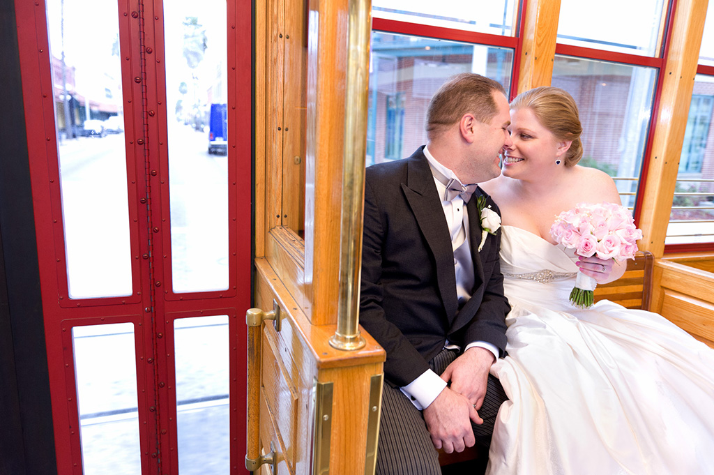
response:
{"label": "narrow top window pane above the man, over the red bar", "polygon": [[511,36],[513,0],[373,0],[378,18]]}

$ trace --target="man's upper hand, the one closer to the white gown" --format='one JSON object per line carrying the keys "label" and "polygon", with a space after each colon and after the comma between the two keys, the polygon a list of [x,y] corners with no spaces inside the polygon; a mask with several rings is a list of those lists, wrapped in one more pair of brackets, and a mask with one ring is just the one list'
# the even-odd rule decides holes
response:
{"label": "man's upper hand, the one closer to the white gown", "polygon": [[493,353],[480,346],[472,346],[453,360],[441,374],[441,379],[451,381],[451,390],[463,394],[476,410],[481,409],[488,386],[488,371],[491,369]]}

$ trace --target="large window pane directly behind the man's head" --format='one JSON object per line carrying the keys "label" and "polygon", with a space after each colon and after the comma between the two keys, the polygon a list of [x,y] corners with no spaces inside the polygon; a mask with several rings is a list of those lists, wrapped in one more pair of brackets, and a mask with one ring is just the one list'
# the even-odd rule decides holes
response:
{"label": "large window pane directly behind the man's head", "polygon": [[426,108],[446,79],[475,72],[508,91],[513,50],[372,32],[366,164],[403,159],[426,144]]}

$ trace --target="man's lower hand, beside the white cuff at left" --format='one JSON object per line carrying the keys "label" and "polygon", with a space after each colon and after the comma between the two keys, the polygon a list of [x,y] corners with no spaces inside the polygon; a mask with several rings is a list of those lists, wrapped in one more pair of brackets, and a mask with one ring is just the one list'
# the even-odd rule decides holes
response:
{"label": "man's lower hand, beside the white cuff at left", "polygon": [[476,439],[471,429],[471,421],[483,424],[483,419],[466,396],[444,388],[423,411],[426,428],[436,449],[447,454],[462,452],[473,447]]}

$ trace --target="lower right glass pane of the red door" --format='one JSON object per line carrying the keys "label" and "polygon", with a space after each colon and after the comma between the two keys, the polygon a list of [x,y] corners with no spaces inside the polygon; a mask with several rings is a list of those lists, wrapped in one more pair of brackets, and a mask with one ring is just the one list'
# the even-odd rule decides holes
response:
{"label": "lower right glass pane of the red door", "polygon": [[228,316],[174,321],[181,475],[230,472]]}

